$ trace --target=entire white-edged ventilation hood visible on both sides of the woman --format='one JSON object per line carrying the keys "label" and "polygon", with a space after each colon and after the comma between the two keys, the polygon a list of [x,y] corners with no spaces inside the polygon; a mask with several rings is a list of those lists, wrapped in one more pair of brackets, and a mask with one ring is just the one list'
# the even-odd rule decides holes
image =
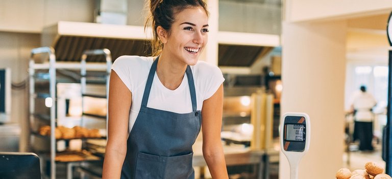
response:
{"label": "entire white-edged ventilation hood visible on both sides of the woman", "polygon": [[[212,34],[211,34],[212,35]],[[59,21],[42,31],[41,45],[55,49],[57,61],[80,61],[83,51],[109,49],[112,59],[121,55],[150,56],[151,29],[141,26]],[[211,37],[210,37],[211,38]],[[218,65],[249,67],[274,47],[278,35],[218,32]],[[87,61],[103,62],[103,56],[88,56]]]}

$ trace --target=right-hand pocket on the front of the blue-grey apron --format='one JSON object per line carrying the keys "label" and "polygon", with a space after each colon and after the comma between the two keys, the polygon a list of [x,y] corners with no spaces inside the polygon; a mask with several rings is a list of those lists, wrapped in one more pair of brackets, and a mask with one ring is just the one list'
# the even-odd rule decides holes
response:
{"label": "right-hand pocket on the front of the blue-grey apron", "polygon": [[191,175],[194,175],[192,167],[192,156],[193,152],[185,155],[163,157],[166,161],[166,165],[164,165],[164,179],[192,178]]}

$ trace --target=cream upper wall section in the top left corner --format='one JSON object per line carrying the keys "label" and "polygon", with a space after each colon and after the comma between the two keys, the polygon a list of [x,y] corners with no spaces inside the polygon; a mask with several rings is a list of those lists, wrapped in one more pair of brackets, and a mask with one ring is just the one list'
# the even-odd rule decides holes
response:
{"label": "cream upper wall section in the top left corner", "polygon": [[0,31],[41,33],[59,20],[92,22],[95,1],[2,0]]}

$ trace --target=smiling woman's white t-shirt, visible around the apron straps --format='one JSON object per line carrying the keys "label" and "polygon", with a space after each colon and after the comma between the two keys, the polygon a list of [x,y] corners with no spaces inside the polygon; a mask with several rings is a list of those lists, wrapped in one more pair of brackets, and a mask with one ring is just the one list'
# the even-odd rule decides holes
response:
{"label": "smiling woman's white t-shirt, visible around the apron straps", "polygon": [[[154,59],[155,57],[120,56],[113,62],[112,70],[132,93],[128,132],[131,131],[139,114],[144,87]],[[197,109],[201,110],[203,101],[215,94],[225,79],[217,66],[204,61],[198,61],[190,66],[190,69],[193,74]],[[179,114],[191,113],[192,102],[186,73],[180,86],[175,90],[166,88],[155,73],[147,107]]]}

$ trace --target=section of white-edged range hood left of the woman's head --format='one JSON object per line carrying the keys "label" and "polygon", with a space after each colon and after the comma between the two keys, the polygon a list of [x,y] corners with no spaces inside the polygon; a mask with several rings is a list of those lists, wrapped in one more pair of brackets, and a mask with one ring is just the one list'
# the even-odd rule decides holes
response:
{"label": "section of white-edged range hood left of the woman's head", "polygon": [[[151,30],[143,27],[96,23],[59,21],[42,31],[42,46],[55,49],[57,61],[80,61],[82,52],[91,49],[109,49],[112,59],[121,55],[151,54],[145,39],[151,38]],[[103,56],[89,56],[87,61],[105,61]]]}

